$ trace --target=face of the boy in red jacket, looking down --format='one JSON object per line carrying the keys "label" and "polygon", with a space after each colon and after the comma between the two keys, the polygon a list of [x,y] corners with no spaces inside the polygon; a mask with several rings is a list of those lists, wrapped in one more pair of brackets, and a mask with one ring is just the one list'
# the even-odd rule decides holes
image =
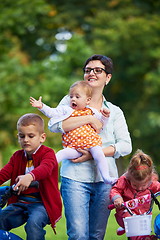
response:
{"label": "face of the boy in red jacket, looking down", "polygon": [[18,142],[28,155],[32,155],[45,140],[46,134],[40,133],[37,126],[18,127]]}

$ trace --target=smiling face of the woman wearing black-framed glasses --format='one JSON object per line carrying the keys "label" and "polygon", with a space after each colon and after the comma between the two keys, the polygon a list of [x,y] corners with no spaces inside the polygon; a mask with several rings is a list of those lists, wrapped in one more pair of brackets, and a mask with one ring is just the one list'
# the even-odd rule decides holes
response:
{"label": "smiling face of the woman wearing black-framed glasses", "polygon": [[[86,66],[85,69],[91,68],[101,68],[105,69],[105,66],[99,60],[90,61]],[[104,70],[101,73],[95,73],[91,70],[89,73],[84,73],[84,80],[89,83],[93,88],[101,88],[103,90],[104,86],[108,84],[112,75],[107,74]]]}

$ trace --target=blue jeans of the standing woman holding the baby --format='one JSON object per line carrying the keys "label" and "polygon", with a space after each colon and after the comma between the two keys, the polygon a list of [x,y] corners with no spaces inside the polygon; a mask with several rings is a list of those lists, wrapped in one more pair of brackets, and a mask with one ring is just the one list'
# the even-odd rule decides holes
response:
{"label": "blue jeans of the standing woman holding the baby", "polygon": [[111,185],[62,177],[61,194],[69,240],[103,240],[110,211]]}

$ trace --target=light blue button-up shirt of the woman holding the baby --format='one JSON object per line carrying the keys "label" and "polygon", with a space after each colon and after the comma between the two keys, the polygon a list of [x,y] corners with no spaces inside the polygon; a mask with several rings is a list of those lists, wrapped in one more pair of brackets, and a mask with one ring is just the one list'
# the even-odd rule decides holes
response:
{"label": "light blue button-up shirt of the woman holding the baby", "polygon": [[[69,96],[65,96],[59,105],[69,105]],[[122,110],[114,104],[107,102],[103,98],[102,108],[110,109],[110,117],[107,125],[100,133],[102,138],[102,148],[114,146],[116,151],[113,157],[106,157],[109,164],[109,173],[111,177],[118,177],[118,170],[115,159],[131,153],[132,143],[126,120]],[[52,132],[64,133],[62,121],[49,125]],[[82,163],[73,163],[68,159],[63,160],[61,166],[61,176],[80,182],[99,182],[103,181],[101,174],[94,160]]]}

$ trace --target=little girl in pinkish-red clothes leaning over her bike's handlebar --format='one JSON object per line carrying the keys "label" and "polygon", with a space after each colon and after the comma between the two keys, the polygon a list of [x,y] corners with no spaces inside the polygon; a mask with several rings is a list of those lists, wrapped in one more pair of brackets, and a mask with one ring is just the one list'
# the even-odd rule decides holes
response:
{"label": "little girl in pinkish-red clothes leaning over her bike's handlebar", "polygon": [[[122,227],[117,231],[118,235],[123,234],[124,223],[123,218],[130,217],[130,214],[123,208],[122,203],[128,200],[160,191],[160,183],[157,181],[158,177],[154,171],[153,162],[150,156],[141,150],[131,158],[127,171],[122,175],[117,183],[112,187],[110,192],[111,201],[116,207],[116,220]],[[141,205],[132,210],[136,215],[146,213],[149,210],[149,203]],[[157,239],[155,236],[141,236],[131,237],[132,240],[149,240]]]}

